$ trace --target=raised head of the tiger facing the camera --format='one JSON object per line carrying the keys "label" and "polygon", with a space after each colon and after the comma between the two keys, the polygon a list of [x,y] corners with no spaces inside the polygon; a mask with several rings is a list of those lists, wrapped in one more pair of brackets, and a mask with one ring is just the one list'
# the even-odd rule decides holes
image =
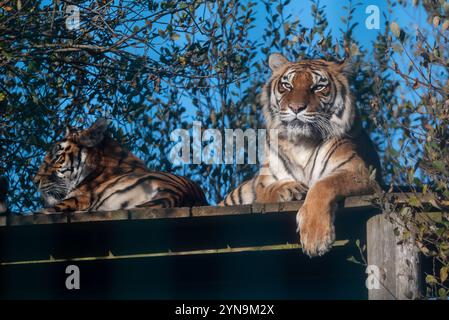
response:
{"label": "raised head of the tiger facing the camera", "polygon": [[290,62],[270,55],[272,76],[262,92],[269,129],[281,136],[325,140],[347,134],[355,107],[349,93],[347,65],[325,60]]}

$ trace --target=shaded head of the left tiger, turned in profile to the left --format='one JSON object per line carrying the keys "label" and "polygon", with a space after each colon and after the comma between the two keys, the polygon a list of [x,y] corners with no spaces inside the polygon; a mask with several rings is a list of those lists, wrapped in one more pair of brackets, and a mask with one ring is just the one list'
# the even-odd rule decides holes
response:
{"label": "shaded head of the left tiger, turned in profile to the left", "polygon": [[67,128],[44,157],[34,183],[47,206],[64,199],[99,164],[96,147],[103,141],[108,122],[97,120],[90,128]]}

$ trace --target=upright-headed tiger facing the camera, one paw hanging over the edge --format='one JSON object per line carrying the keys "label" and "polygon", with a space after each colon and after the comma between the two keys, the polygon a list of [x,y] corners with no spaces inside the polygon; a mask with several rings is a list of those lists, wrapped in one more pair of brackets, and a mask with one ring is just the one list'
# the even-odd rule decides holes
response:
{"label": "upright-headed tiger facing the camera, one paw hanging over the edge", "polygon": [[337,202],[378,190],[379,157],[361,128],[345,63],[290,62],[272,54],[269,66],[261,101],[267,129],[277,132],[269,140],[276,138],[277,146],[268,143],[259,174],[221,205],[305,197],[296,219],[301,246],[309,256],[321,256],[335,241]]}

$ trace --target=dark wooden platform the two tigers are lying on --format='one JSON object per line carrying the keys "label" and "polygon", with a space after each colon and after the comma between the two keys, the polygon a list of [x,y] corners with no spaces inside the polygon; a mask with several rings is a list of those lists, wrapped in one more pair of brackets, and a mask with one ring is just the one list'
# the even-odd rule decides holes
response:
{"label": "dark wooden platform the two tigers are lying on", "polygon": [[0,298],[366,299],[366,267],[347,259],[374,201],[342,202],[335,247],[313,259],[295,233],[301,202],[0,217]]}

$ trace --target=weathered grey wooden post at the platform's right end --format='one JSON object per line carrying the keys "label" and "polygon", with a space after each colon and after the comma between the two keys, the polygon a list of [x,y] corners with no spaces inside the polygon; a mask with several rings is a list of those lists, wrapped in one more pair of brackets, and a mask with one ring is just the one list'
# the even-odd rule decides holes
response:
{"label": "weathered grey wooden post at the platform's right end", "polygon": [[[399,232],[399,235],[395,235]],[[370,300],[405,300],[420,297],[421,263],[413,234],[401,239],[404,226],[386,214],[376,215],[367,223],[368,270],[373,273]]]}

